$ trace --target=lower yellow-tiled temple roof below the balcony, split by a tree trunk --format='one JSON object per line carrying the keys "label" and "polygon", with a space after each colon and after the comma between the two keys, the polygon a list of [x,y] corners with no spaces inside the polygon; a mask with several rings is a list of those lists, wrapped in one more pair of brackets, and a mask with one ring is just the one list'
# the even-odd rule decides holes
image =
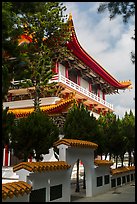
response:
{"label": "lower yellow-tiled temple roof below the balcony, split by a tree trunk", "polygon": [[[51,104],[46,106],[40,106],[42,112],[47,113],[49,115],[58,114],[61,111],[68,110],[71,104],[74,102],[74,98],[61,99],[57,104]],[[34,107],[31,108],[14,108],[9,109],[8,113],[15,114],[16,118],[27,117],[32,112],[34,112]]]}

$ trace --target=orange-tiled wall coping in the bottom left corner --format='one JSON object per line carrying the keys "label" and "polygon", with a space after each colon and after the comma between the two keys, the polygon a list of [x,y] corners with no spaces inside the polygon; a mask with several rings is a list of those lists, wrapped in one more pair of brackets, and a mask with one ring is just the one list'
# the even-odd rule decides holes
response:
{"label": "orange-tiled wall coping in the bottom left corner", "polygon": [[13,198],[13,196],[23,195],[24,193],[28,194],[31,190],[32,186],[24,181],[4,183],[2,184],[2,199]]}

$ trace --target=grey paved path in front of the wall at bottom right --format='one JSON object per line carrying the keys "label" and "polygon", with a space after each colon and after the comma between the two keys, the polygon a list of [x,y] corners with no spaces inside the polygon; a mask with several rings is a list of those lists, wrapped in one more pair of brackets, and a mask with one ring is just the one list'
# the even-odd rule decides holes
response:
{"label": "grey paved path in front of the wall at bottom right", "polygon": [[112,189],[94,197],[85,197],[85,190],[73,191],[71,202],[135,202],[135,182]]}

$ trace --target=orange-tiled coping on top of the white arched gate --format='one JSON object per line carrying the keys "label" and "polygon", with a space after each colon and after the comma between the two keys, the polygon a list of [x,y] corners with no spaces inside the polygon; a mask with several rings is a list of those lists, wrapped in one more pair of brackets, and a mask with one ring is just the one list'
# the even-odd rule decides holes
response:
{"label": "orange-tiled coping on top of the white arched gate", "polygon": [[55,142],[53,145],[58,146],[60,144],[65,144],[67,146],[74,146],[74,147],[92,148],[92,149],[96,149],[98,147],[96,143],[84,141],[84,140],[75,140],[75,139],[61,139]]}

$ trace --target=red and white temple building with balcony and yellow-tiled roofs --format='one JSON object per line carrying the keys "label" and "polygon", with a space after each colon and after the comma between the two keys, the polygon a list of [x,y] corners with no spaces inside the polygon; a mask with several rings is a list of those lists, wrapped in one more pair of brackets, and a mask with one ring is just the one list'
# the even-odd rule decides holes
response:
{"label": "red and white temple building with balcony and yellow-tiled roofs", "polygon": [[[105,115],[108,111],[113,112],[113,104],[106,100],[106,96],[117,94],[121,89],[132,88],[131,81],[118,81],[93,59],[77,39],[71,14],[68,22],[71,38],[66,47],[70,50],[70,55],[67,60],[56,63],[53,69],[55,75],[50,80],[57,83],[60,94],[57,91],[55,95],[41,97],[41,109],[50,115],[63,114],[75,99],[82,102],[96,118],[101,113]],[[31,41],[30,36],[22,35],[19,45]],[[3,103],[3,107],[9,107],[9,112],[13,112],[17,118],[25,117],[34,110],[31,95],[34,87],[20,88],[19,83],[20,81],[12,81],[7,99]]]}

